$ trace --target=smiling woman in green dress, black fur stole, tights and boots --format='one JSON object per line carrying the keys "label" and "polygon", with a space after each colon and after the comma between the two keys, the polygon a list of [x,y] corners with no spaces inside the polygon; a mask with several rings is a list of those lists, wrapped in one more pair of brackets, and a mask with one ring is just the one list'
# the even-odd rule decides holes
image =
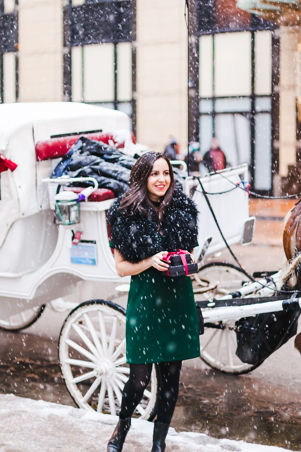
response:
{"label": "smiling woman in green dress, black fur stole, tights and boots", "polygon": [[[131,276],[126,311],[126,360],[130,377],[122,392],[119,421],[108,452],[120,452],[131,416],[158,363],[158,396],[152,452],[165,451],[165,438],[176,406],[183,359],[199,356],[198,317],[190,277],[163,274],[162,257],[197,245],[197,209],[175,188],[166,155],[142,155],[130,174],[130,189],[109,210],[116,270]],[[193,257],[193,256],[192,256]]]}

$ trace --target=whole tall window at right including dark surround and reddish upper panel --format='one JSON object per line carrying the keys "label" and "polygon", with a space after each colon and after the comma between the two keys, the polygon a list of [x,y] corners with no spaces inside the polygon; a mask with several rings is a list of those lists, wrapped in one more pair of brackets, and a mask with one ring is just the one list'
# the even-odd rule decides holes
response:
{"label": "whole tall window at right including dark surround and reddish upper panel", "polygon": [[279,167],[278,25],[242,11],[235,0],[196,5],[190,34],[199,52],[190,46],[190,60],[197,56],[190,72],[199,89],[192,119],[199,119],[201,150],[217,137],[230,165],[249,165],[252,189],[269,192]]}

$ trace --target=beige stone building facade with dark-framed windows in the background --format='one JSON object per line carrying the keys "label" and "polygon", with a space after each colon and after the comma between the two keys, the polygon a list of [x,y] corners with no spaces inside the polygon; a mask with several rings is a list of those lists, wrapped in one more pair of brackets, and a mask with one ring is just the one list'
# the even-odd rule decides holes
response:
{"label": "beige stone building facade with dark-framed windows in the background", "polygon": [[229,164],[247,162],[252,187],[270,193],[296,161],[285,53],[296,33],[281,38],[279,85],[277,25],[235,0],[185,3],[0,0],[0,101],[116,108],[155,151],[173,136],[181,151],[189,137],[204,153],[217,136]]}

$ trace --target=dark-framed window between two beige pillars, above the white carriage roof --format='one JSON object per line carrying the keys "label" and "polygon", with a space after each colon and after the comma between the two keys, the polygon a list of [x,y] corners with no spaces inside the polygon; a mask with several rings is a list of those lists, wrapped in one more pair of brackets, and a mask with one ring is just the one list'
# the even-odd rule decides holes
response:
{"label": "dark-framed window between two beige pillars, above the white carriage roof", "polygon": [[69,0],[64,7],[65,99],[123,111],[135,132],[133,41],[135,0]]}

